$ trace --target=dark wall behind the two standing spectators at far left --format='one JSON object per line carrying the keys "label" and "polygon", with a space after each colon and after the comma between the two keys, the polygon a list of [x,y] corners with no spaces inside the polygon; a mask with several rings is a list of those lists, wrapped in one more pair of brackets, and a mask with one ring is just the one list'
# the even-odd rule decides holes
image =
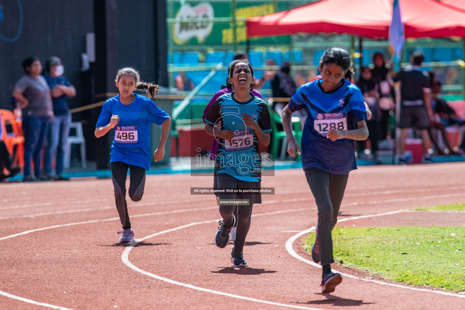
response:
{"label": "dark wall behind the two standing spectators at far left", "polygon": [[[7,42],[0,36],[0,108],[11,109],[13,86],[23,75],[21,62],[35,55],[42,61],[58,56],[65,76],[76,87],[71,108],[81,106],[80,53],[86,52],[86,33],[93,32],[93,0],[20,0],[23,27],[18,40]],[[2,0],[0,35],[14,38],[19,28],[17,0]]]}

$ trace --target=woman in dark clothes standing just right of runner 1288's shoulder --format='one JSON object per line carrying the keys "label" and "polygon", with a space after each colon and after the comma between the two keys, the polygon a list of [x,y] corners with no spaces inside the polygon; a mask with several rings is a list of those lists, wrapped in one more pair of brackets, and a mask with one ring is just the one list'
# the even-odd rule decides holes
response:
{"label": "woman in dark clothes standing just right of runner 1288's shoulder", "polygon": [[[371,119],[366,121],[368,128],[368,139],[372,145],[373,160],[378,161],[378,140],[379,140],[379,120],[381,119],[381,111],[378,105],[378,92],[376,91],[377,84],[373,80],[372,71],[369,67],[362,68],[362,74],[359,82],[356,84],[363,94],[366,104],[372,112]],[[378,97],[378,98],[377,98]],[[365,150],[365,141],[357,141],[359,149],[363,152]]]}

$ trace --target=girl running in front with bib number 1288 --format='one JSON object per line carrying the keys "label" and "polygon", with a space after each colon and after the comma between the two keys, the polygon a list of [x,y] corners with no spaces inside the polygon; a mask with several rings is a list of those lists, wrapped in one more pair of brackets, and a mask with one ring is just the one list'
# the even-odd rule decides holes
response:
{"label": "girl running in front with bib number 1288", "polygon": [[282,112],[287,152],[296,157],[299,144],[292,134],[291,115],[310,111],[302,132],[302,166],[318,207],[316,241],[312,258],[321,263],[322,293],[331,293],[341,283],[331,272],[331,231],[337,222],[349,171],[357,169],[354,140],[368,137],[366,110],[359,88],[344,79],[352,59],[342,48],[330,48],[321,56],[321,78],[300,86]]}

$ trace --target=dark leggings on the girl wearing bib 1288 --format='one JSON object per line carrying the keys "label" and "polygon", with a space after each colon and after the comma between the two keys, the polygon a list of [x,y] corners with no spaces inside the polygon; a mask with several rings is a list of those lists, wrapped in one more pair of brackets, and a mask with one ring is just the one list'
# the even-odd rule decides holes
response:
{"label": "dark leggings on the girl wearing bib 1288", "polygon": [[308,185],[318,207],[318,245],[321,264],[334,263],[331,231],[338,221],[349,174],[334,174],[319,168],[305,170]]}

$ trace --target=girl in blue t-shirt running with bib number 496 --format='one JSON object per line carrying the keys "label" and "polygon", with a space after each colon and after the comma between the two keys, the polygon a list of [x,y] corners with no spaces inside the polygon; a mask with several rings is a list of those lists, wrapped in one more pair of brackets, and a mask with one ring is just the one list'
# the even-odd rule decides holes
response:
{"label": "girl in blue t-shirt running with bib number 496", "polygon": [[[139,201],[144,194],[146,171],[151,164],[150,123],[161,125],[161,138],[153,160],[161,160],[165,155],[165,144],[170,130],[169,115],[155,105],[159,86],[140,81],[139,72],[133,68],[123,68],[116,75],[116,86],[120,94],[106,100],[95,129],[100,138],[114,128],[110,163],[115,193],[116,208],[120,215],[123,234],[120,242],[133,242],[134,231],[129,222],[126,204],[126,175],[130,170],[129,197]],[[133,93],[134,89],[147,89],[150,98]]]}

